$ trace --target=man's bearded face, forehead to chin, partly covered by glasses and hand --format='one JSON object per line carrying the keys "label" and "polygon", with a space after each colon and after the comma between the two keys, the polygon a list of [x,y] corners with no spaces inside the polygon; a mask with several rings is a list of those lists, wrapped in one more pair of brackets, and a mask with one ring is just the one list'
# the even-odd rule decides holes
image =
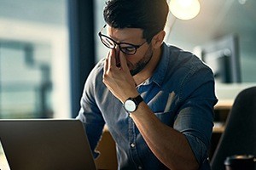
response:
{"label": "man's bearded face, forehead to chin, partly covered by glasses and hand", "polygon": [[141,29],[115,29],[107,26],[107,36],[111,37],[116,42],[126,42],[134,45],[141,45],[139,48],[137,48],[136,53],[132,55],[123,53],[119,49],[118,45],[116,45],[116,48],[113,49],[115,50],[117,65],[119,65],[119,56],[125,56],[127,65],[131,71],[131,76],[135,76],[138,72],[142,71],[153,56],[151,44],[148,44],[146,39],[143,39],[143,30]]}

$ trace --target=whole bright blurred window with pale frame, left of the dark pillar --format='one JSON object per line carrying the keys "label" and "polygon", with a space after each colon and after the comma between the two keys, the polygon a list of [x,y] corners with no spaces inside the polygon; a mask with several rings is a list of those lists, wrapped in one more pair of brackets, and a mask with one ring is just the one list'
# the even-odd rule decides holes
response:
{"label": "whole bright blurred window with pale frame, left of the dark pillar", "polygon": [[70,117],[66,0],[1,0],[0,117]]}

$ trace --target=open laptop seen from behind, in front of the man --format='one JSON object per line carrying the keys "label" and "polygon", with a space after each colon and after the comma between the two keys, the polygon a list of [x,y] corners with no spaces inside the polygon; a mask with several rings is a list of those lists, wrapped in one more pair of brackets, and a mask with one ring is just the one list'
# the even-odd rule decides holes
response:
{"label": "open laptop seen from behind, in front of the man", "polygon": [[0,120],[0,140],[11,170],[96,169],[79,120]]}

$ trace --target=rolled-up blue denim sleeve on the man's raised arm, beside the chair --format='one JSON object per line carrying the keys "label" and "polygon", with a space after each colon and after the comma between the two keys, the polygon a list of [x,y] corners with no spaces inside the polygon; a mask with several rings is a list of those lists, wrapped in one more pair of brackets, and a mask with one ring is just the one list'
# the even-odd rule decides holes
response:
{"label": "rolled-up blue denim sleeve on the man's raised arm, beside the chair", "polygon": [[[205,78],[211,77],[211,72]],[[197,77],[197,76],[196,76]],[[181,105],[173,127],[183,133],[189,141],[189,145],[194,152],[196,160],[201,165],[207,160],[208,148],[212,137],[213,127],[213,107],[218,99],[214,94],[214,81],[210,79],[191,77],[184,86]],[[194,82],[195,80],[198,83]]]}

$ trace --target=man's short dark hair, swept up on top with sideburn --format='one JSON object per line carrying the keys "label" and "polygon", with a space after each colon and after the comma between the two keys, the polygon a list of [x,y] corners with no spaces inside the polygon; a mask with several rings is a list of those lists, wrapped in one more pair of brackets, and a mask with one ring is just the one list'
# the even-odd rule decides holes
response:
{"label": "man's short dark hair, swept up on top with sideburn", "polygon": [[169,11],[166,0],[109,0],[106,4],[103,15],[109,26],[140,28],[148,43],[166,25]]}

